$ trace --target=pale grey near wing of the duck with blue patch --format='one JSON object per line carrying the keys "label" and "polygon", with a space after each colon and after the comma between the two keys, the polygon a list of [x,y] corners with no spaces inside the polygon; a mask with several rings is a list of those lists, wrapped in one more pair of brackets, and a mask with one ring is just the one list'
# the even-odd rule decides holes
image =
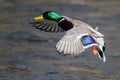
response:
{"label": "pale grey near wing of the duck with blue patch", "polygon": [[[79,28],[75,27],[67,32],[67,34],[57,43],[56,48],[59,53],[78,55],[86,48],[97,45],[96,41],[84,28],[79,32]],[[83,33],[85,32],[85,33]]]}

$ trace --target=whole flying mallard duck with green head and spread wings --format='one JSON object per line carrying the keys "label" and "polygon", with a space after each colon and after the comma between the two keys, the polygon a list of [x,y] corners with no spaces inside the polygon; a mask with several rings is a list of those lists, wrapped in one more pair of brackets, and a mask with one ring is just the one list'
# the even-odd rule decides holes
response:
{"label": "whole flying mallard duck with green head and spread wings", "polygon": [[92,53],[106,61],[104,35],[85,22],[62,16],[54,11],[46,11],[33,18],[31,24],[45,32],[65,32],[56,49],[64,55],[79,55],[91,47]]}

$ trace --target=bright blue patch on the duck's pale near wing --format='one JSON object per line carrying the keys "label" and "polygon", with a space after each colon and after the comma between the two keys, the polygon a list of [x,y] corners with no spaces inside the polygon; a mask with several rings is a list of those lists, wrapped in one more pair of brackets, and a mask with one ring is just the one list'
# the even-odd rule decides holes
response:
{"label": "bright blue patch on the duck's pale near wing", "polygon": [[95,40],[90,35],[85,35],[81,38],[81,42],[83,45],[89,45],[96,43]]}

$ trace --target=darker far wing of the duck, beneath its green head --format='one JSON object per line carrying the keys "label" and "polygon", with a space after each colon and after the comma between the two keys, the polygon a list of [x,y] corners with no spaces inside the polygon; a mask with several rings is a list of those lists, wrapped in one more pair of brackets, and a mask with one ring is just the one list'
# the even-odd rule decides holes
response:
{"label": "darker far wing of the duck, beneath its green head", "polygon": [[63,32],[64,30],[52,20],[39,20],[30,22],[34,27],[45,32]]}

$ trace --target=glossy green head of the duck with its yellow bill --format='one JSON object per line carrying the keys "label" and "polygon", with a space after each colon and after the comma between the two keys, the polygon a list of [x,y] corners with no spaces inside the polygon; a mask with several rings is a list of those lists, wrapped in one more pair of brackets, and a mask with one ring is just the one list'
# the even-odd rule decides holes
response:
{"label": "glossy green head of the duck with its yellow bill", "polygon": [[43,20],[43,19],[53,20],[58,22],[59,20],[62,19],[62,17],[56,12],[46,11],[42,15],[34,18],[34,20]]}

